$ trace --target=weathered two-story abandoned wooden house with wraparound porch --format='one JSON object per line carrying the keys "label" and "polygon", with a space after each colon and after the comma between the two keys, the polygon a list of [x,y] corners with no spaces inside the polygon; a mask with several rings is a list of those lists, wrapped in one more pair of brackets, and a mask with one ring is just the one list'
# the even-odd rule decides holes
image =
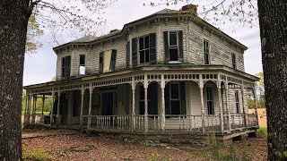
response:
{"label": "weathered two-story abandoned wooden house with wraparound porch", "polygon": [[[247,49],[199,18],[192,4],[164,9],[122,30],[54,47],[56,80],[24,87],[24,125],[228,137],[255,132],[257,113],[248,114],[247,96],[256,97],[258,78],[244,72]],[[37,98],[47,97],[50,114],[35,114]]]}

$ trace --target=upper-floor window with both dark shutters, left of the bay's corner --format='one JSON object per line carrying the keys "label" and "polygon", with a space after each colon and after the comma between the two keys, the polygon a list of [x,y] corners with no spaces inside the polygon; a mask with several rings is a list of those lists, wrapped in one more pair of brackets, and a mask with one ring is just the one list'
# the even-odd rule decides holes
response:
{"label": "upper-floor window with both dark shutters, left of the bay's corner", "polygon": [[[129,45],[129,43],[127,43]],[[126,47],[128,48],[128,47]],[[126,49],[126,52],[129,52]],[[128,55],[128,53],[126,54]],[[129,58],[126,56],[126,58]],[[132,39],[132,64],[135,67],[137,64],[156,63],[156,34],[133,38]]]}

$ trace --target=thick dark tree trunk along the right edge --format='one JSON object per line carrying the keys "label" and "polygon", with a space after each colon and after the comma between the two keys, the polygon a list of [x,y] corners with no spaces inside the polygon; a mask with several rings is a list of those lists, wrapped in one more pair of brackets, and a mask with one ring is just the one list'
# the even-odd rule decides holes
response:
{"label": "thick dark tree trunk along the right edge", "polygon": [[268,160],[287,159],[287,3],[258,0]]}

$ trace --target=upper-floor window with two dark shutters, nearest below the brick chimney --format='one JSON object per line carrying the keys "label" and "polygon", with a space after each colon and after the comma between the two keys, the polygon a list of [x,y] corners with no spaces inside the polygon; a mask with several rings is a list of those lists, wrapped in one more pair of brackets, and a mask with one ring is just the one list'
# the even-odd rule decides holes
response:
{"label": "upper-floor window with two dark shutters, nearest below the brick chimney", "polygon": [[183,61],[183,31],[164,31],[163,38],[166,61]]}

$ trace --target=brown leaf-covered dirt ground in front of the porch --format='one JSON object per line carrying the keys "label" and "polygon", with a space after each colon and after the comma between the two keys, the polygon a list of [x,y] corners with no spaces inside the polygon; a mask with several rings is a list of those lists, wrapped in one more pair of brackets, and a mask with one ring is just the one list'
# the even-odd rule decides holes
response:
{"label": "brown leaf-covered dirt ground in front of the porch", "polygon": [[[22,145],[28,152],[48,153],[44,160],[216,160],[212,148],[206,145],[135,142],[65,130],[25,130]],[[232,145],[238,155],[246,151],[251,160],[266,160],[265,139],[233,141]],[[229,150],[226,146],[223,149]]]}

